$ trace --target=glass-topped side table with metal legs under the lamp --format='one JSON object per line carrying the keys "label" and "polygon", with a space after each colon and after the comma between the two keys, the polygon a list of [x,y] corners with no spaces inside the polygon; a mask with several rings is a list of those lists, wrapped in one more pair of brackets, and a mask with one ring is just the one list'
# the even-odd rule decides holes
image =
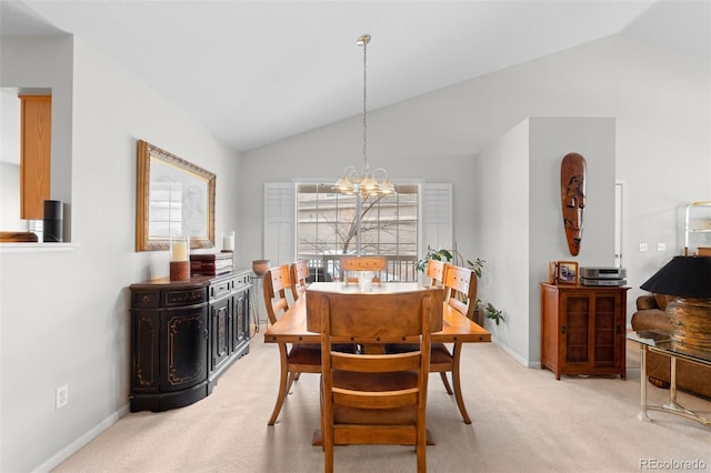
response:
{"label": "glass-topped side table with metal legs under the lamp", "polygon": [[[711,366],[711,356],[699,358],[687,353],[675,351],[671,346],[669,339],[669,332],[644,330],[639,332],[630,332],[627,335],[628,340],[640,344],[640,413],[638,417],[640,421],[651,421],[647,415],[647,411],[667,412],[668,414],[680,415],[682,417],[691,419],[703,425],[711,426],[711,419],[707,419],[698,413],[684,407],[677,401],[677,360],[681,359],[692,363],[698,363],[705,366]],[[670,373],[670,386],[669,386],[669,404],[663,405],[650,405],[647,403],[647,353],[655,352],[669,356],[671,373]]]}

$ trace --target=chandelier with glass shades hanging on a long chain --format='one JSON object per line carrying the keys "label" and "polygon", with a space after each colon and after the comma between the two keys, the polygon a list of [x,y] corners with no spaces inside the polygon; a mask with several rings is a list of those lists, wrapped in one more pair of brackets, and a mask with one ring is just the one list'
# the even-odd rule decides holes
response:
{"label": "chandelier with glass shades hanging on a long chain", "polygon": [[[363,169],[358,172],[354,165],[348,165],[343,170],[341,179],[333,184],[333,190],[346,194],[354,195],[384,195],[395,192],[395,187],[390,182],[388,171],[378,168],[375,171],[370,170],[368,162],[368,43],[370,34],[363,34],[356,43],[363,47]],[[375,173],[384,174],[381,181],[378,181]]]}

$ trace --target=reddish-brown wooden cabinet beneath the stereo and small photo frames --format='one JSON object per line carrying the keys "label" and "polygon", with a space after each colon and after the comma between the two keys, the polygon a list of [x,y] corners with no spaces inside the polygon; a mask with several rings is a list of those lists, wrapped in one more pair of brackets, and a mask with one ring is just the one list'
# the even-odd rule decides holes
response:
{"label": "reddish-brown wooden cabinet beneath the stereo and small photo frames", "polygon": [[625,372],[629,288],[541,284],[541,368],[561,374]]}

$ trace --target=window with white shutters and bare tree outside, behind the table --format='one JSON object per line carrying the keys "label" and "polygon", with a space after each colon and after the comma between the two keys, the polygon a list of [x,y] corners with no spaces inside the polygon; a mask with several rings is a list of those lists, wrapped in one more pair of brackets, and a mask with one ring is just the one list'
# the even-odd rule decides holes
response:
{"label": "window with white shutters and bare tree outside, behind the table", "polygon": [[387,258],[387,280],[417,281],[415,263],[428,245],[452,248],[451,183],[399,184],[394,195],[367,198],[360,225],[356,197],[331,188],[313,181],[264,184],[263,258],[272,265],[304,259],[313,280],[330,280],[340,276],[340,256],[360,249]]}

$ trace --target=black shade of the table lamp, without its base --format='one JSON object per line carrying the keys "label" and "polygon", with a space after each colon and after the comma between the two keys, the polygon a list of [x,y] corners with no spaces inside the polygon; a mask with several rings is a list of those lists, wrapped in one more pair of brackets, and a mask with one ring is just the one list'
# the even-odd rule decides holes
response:
{"label": "black shade of the table lamp, without its base", "polygon": [[679,298],[711,299],[711,256],[674,256],[640,288]]}

